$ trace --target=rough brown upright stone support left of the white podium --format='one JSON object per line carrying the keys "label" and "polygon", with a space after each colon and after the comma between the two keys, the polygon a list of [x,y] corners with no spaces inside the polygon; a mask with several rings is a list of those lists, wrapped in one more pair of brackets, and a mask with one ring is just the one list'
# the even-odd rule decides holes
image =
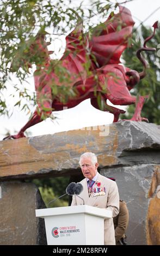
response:
{"label": "rough brown upright stone support left of the white podium", "polygon": [[44,220],[35,209],[45,208],[34,184],[20,181],[0,182],[0,245],[45,245]]}

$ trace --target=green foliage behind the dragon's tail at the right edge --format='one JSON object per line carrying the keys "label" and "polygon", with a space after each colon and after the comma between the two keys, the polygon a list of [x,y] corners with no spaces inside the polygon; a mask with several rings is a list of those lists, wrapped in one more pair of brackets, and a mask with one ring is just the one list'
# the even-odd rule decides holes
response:
{"label": "green foliage behind the dragon's tail at the right edge", "polygon": [[[133,70],[141,72],[143,66],[136,57],[138,48],[143,46],[144,40],[150,36],[153,29],[141,26],[140,31],[133,34],[133,46],[127,48],[122,54],[125,60],[125,66]],[[155,36],[147,43],[147,47],[155,48],[155,52],[145,52],[144,57],[150,65],[147,69],[146,77],[131,90],[132,95],[149,95],[144,103],[141,116],[149,119],[150,123],[160,124],[160,58],[157,55],[158,44],[160,42],[160,29],[156,30]],[[135,106],[130,105],[127,108],[127,114],[121,114],[121,119],[131,118],[134,113]]]}

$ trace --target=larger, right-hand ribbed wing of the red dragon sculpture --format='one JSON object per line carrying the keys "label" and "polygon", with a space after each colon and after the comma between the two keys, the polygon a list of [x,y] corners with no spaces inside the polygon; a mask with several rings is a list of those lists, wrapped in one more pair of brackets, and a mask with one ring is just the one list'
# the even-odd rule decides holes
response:
{"label": "larger, right-hand ribbed wing of the red dragon sculpture", "polygon": [[122,6],[119,6],[119,9],[118,14],[110,14],[104,23],[93,29],[91,39],[87,35],[91,53],[94,55],[91,59],[96,68],[120,63],[121,54],[131,37],[134,25],[131,12]]}

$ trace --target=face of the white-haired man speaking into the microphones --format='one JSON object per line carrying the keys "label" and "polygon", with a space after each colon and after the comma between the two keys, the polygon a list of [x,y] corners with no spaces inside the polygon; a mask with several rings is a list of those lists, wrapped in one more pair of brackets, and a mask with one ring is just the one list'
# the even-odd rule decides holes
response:
{"label": "face of the white-haired man speaking into the microphones", "polygon": [[97,173],[98,163],[93,164],[89,157],[83,157],[81,159],[81,170],[85,178],[93,179]]}

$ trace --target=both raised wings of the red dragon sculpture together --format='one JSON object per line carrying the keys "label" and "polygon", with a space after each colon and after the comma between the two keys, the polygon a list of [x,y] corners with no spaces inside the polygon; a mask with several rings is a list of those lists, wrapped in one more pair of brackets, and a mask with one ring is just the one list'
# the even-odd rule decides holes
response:
{"label": "both raised wings of the red dragon sculpture together", "polygon": [[[131,37],[134,21],[130,10],[122,6],[119,8],[118,14],[110,14],[104,23],[93,29],[91,39],[88,34],[84,35],[82,23],[66,36],[66,48],[60,65],[69,72],[72,85],[77,82],[84,85],[89,70],[120,63],[121,54]],[[96,62],[95,58],[87,54],[87,47],[90,47]]]}

